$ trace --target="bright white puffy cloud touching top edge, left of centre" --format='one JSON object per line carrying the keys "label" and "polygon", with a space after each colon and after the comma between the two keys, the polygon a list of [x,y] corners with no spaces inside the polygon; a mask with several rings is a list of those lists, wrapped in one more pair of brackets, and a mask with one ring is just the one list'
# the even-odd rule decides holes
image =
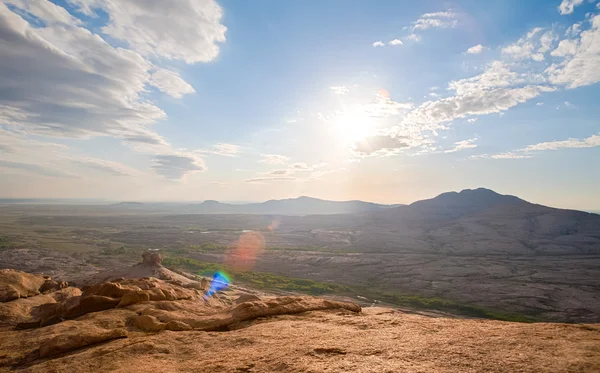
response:
{"label": "bright white puffy cloud touching top edge, left of centre", "polygon": [[223,10],[213,0],[68,0],[87,15],[106,12],[102,32],[138,53],[184,60],[212,61],[225,41]]}

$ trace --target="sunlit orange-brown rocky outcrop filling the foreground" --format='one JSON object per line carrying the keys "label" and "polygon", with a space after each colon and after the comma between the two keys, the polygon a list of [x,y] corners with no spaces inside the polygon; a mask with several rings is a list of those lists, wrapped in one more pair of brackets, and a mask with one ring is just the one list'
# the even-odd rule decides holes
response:
{"label": "sunlit orange-brown rocky outcrop filling the foreground", "polygon": [[[597,372],[600,326],[421,315],[174,275],[81,289],[0,271],[0,372]],[[133,274],[140,273],[134,268]],[[127,275],[121,269],[121,275]]]}

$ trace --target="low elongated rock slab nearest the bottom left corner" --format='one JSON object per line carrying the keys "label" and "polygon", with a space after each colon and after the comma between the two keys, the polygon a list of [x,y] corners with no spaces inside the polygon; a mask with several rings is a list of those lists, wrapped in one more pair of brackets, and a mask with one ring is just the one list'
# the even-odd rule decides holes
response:
{"label": "low elongated rock slab nearest the bottom left corner", "polygon": [[52,357],[64,354],[101,342],[110,341],[117,338],[126,338],[125,329],[105,330],[100,328],[88,328],[85,330],[76,330],[72,334],[58,335],[40,346],[40,357]]}

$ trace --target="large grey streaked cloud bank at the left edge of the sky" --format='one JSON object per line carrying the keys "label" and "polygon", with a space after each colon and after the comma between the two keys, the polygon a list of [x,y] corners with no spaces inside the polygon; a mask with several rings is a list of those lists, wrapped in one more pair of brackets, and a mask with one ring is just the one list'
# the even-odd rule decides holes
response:
{"label": "large grey streaked cloud bank at the left edge of the sky", "polygon": [[142,57],[80,27],[33,28],[4,4],[0,33],[4,124],[51,136],[157,141],[144,127],[165,113],[140,100],[151,66]]}

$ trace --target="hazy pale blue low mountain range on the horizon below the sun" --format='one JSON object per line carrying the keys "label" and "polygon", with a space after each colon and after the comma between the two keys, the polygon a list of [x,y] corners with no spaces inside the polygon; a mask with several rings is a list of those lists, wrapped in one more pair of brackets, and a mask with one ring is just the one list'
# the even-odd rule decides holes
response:
{"label": "hazy pale blue low mountain range on the horizon below the sun", "polygon": [[186,214],[332,215],[379,211],[402,205],[364,201],[329,201],[311,197],[269,200],[262,203],[231,204],[213,200],[202,203],[120,202],[115,209],[166,210]]}

